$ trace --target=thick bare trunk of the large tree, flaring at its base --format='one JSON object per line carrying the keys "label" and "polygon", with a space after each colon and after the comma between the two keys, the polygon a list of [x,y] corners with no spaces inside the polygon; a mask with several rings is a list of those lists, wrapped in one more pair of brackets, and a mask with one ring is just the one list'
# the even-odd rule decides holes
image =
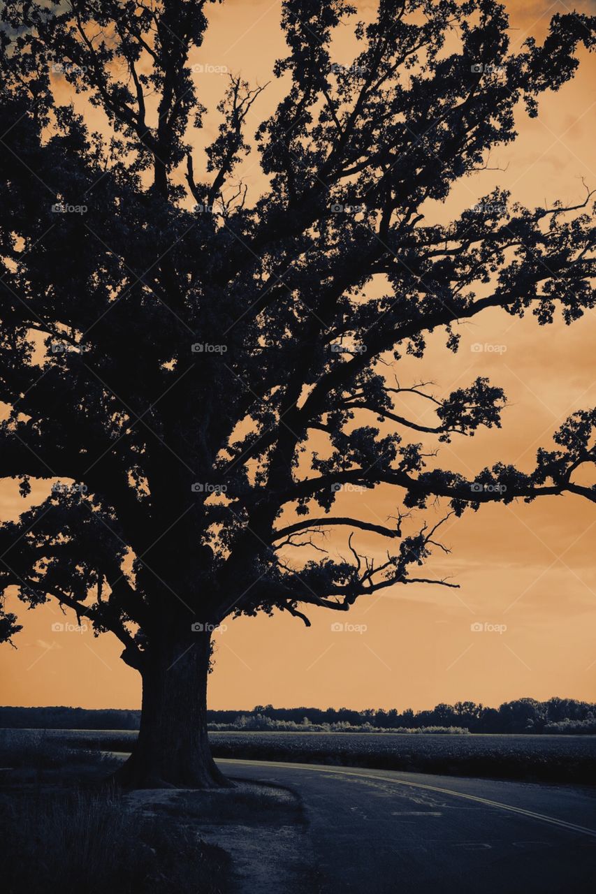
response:
{"label": "thick bare trunk of the large tree, flaring at its base", "polygon": [[125,788],[215,789],[232,786],[211,757],[207,736],[210,634],[167,637],[152,646],[141,671],[140,730],[115,774]]}

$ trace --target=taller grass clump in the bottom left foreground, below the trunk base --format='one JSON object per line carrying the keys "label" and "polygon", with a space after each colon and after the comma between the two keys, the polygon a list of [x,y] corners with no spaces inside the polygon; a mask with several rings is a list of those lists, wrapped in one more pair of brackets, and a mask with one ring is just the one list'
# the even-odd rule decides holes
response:
{"label": "taller grass clump in the bottom left foreground, below the trunk base", "polygon": [[115,792],[0,801],[6,894],[220,894],[229,858],[192,826],[146,818]]}

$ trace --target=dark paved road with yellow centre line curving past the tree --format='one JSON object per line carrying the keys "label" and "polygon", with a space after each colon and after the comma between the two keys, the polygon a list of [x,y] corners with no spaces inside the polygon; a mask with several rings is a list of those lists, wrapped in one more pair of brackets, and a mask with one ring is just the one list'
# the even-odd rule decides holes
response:
{"label": "dark paved road with yellow centre line curving past the tree", "polygon": [[[322,894],[576,894],[596,890],[596,793],[300,763],[220,760],[294,789]],[[284,892],[276,892],[284,894]],[[304,894],[315,894],[311,883]]]}

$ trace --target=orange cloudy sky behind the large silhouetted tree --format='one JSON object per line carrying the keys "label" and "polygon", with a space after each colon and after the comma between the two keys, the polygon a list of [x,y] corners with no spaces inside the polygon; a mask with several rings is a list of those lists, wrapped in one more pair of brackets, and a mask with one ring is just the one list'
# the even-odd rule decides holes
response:
{"label": "orange cloudy sky behind the large silhouetted tree", "polygon": [[[362,2],[363,14],[373,4]],[[507,4],[514,46],[527,34],[541,37],[552,13],[565,4]],[[594,4],[576,8],[594,12]],[[225,65],[260,84],[269,80],[272,63],[283,55],[278,27],[279,3],[234,2],[210,9],[211,28],[196,60]],[[338,47],[341,59],[341,46]],[[347,61],[347,60],[346,60]],[[430,209],[440,219],[475,204],[494,186],[512,191],[524,204],[562,198],[582,200],[581,178],[596,187],[594,144],[594,65],[582,55],[575,80],[541,99],[541,114],[520,116],[515,145],[498,148],[491,164],[506,170],[477,173],[457,184],[447,208]],[[203,97],[225,89],[225,78],[200,75]],[[268,114],[279,95],[273,83],[254,106],[251,130]],[[200,146],[215,133],[207,122]],[[244,178],[258,189],[257,155],[249,156]],[[497,460],[532,468],[539,444],[569,413],[596,404],[593,364],[594,314],[575,325],[535,325],[490,311],[461,327],[458,354],[444,349],[444,336],[430,339],[423,360],[400,362],[400,381],[432,380],[437,394],[470,384],[477,375],[505,388],[510,406],[501,430],[482,431],[443,445],[439,461],[465,474]],[[472,350],[480,344],[485,350]],[[486,346],[499,350],[486,350]],[[421,412],[423,407],[412,409]],[[422,421],[425,417],[422,416]],[[47,482],[34,483],[33,495],[47,493]],[[13,519],[25,507],[14,482],[4,483],[0,519]],[[370,520],[382,521],[395,510],[391,489],[345,495],[357,500]],[[338,503],[340,509],[342,503]],[[430,518],[432,514],[430,513]],[[437,516],[438,519],[438,516]],[[312,627],[289,615],[227,620],[217,636],[217,663],[209,679],[213,708],[253,704],[412,706],[473,699],[499,704],[510,698],[552,695],[596,699],[596,572],[593,505],[573,495],[533,503],[486,506],[478,513],[450,519],[442,542],[451,550],[430,561],[433,576],[454,576],[459,590],[408,586],[382,591],[369,603],[356,604],[343,621],[366,625],[363,632],[334,632],[336,614],[311,610]],[[331,541],[345,554],[345,536]],[[367,545],[365,537],[360,544]],[[15,651],[0,647],[2,704],[76,704],[84,707],[138,707],[140,678],[119,659],[115,637],[56,632],[64,621],[55,606],[26,611],[16,599],[10,607],[24,629]],[[72,620],[72,619],[68,619]],[[474,632],[485,622],[506,630]]]}

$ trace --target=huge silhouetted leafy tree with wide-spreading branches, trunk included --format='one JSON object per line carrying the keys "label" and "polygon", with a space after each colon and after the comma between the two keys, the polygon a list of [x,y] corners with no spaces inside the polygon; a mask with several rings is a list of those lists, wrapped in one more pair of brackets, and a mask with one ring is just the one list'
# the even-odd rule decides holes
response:
{"label": "huge silhouetted leafy tree with wide-spreading branches, trunk included", "polygon": [[[515,139],[515,105],[535,115],[573,76],[594,20],[556,15],[542,45],[513,53],[492,0],[379,0],[345,66],[332,38],[353,7],[286,0],[285,97],[251,140],[264,88],[231,75],[199,171],[190,58],[207,12],[11,0],[2,13],[2,475],[24,496],[30,478],[53,482],[0,530],[2,586],[122,641],[143,688],[129,785],[223,784],[206,688],[226,616],[308,625],[310,606],[342,617],[360,596],[432,582],[417,569],[441,520],[417,519],[439,498],[447,515],[596,498],[574,479],[594,460],[593,410],[532,474],[498,464],[469,481],[418,442],[499,426],[502,390],[481,377],[436,397],[393,378],[427,333],[455,351],[453,325],[485,308],[545,325],[593,307],[590,193],[531,210],[496,190],[448,226],[421,207]],[[260,196],[234,173],[255,146]],[[434,426],[404,415],[404,393],[432,403]],[[396,493],[386,524],[333,512],[342,487],[381,484]],[[325,552],[329,530],[351,532],[349,559]],[[362,554],[360,532],[385,560]],[[2,637],[18,629],[4,611]]]}

